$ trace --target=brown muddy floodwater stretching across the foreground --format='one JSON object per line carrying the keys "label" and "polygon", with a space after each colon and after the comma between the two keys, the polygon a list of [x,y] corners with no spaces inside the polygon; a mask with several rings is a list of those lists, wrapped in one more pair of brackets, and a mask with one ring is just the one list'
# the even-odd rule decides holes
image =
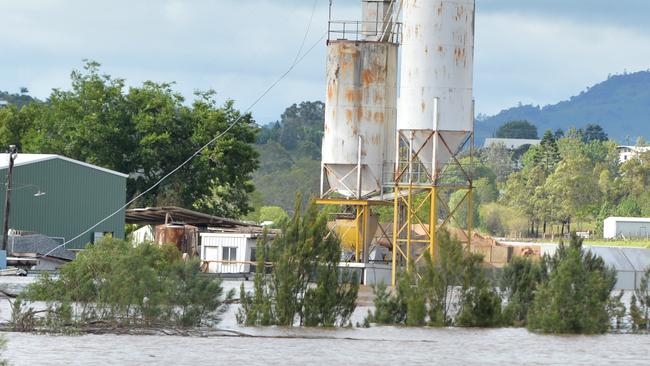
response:
{"label": "brown muddy floodwater stretching across the foreground", "polygon": [[[233,284],[232,287],[235,287]],[[230,286],[228,286],[230,287]],[[4,333],[12,365],[650,365],[649,335],[549,336],[524,329],[220,328],[251,337]],[[353,323],[367,307],[359,307]],[[10,314],[0,301],[0,318]]]}

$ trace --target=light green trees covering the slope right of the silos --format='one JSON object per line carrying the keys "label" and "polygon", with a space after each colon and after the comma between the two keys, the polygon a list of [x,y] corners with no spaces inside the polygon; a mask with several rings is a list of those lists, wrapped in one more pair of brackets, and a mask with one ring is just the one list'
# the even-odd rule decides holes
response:
{"label": "light green trees covering the slope right of the silos", "polygon": [[[650,154],[620,162],[616,147],[600,126],[591,125],[566,133],[547,130],[541,143],[520,157],[505,146],[480,149],[477,226],[498,236],[580,229],[599,235],[608,216],[650,215],[650,195],[643,188],[650,181]],[[494,180],[480,181],[486,169]]]}

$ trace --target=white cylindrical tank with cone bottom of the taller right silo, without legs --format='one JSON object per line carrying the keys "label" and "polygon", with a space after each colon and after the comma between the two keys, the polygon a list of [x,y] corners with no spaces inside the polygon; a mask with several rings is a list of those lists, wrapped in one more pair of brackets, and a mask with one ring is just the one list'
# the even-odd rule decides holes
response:
{"label": "white cylindrical tank with cone bottom of the taller right silo, without legs", "polygon": [[397,129],[438,171],[474,130],[474,0],[404,0],[402,21]]}

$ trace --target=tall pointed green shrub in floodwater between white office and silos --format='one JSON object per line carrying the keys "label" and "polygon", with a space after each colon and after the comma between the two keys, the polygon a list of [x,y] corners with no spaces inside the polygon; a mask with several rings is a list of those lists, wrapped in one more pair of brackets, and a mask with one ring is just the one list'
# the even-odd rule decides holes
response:
{"label": "tall pointed green shrub in floodwater between white office and silos", "polygon": [[282,234],[258,243],[253,291],[240,289],[240,324],[345,325],[356,308],[359,283],[338,267],[340,242],[328,235],[326,217],[313,204],[300,216],[300,198],[294,212]]}

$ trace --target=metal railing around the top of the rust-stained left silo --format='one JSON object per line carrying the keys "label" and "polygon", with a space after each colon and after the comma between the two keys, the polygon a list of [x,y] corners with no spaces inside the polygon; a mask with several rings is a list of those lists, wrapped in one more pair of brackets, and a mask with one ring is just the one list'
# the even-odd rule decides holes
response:
{"label": "metal railing around the top of the rust-stained left silo", "polygon": [[[327,24],[327,40],[375,40],[399,44],[402,23],[358,20],[331,20]],[[376,39],[372,39],[376,37]]]}

